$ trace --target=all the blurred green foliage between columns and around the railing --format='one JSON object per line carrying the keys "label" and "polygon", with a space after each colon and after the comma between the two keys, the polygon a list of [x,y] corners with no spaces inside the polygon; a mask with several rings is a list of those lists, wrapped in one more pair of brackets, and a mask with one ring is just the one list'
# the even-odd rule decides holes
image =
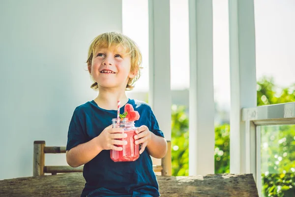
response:
{"label": "all the blurred green foliage between columns and around the railing", "polygon": [[[278,94],[279,93],[279,94]],[[257,83],[257,105],[295,101],[295,84],[279,89],[273,78]],[[295,197],[295,126],[262,127],[262,181],[266,197]],[[266,146],[266,142],[267,146]],[[215,173],[230,170],[230,126],[215,127]],[[266,170],[265,170],[266,169]],[[188,175],[188,117],[172,106],[172,174]]]}

